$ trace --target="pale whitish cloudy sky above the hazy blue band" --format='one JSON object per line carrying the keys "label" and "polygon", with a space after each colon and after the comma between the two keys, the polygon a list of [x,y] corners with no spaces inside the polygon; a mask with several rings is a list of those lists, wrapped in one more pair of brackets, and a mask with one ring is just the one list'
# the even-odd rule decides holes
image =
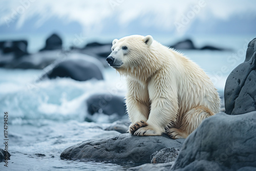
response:
{"label": "pale whitish cloudy sky above the hazy blue band", "polygon": [[[254,4],[254,5],[253,5]],[[184,16],[189,20],[209,20],[212,16],[228,19],[232,15],[253,13],[256,15],[255,1],[148,1],[148,0],[2,0],[0,2],[0,26],[15,20],[16,29],[26,21],[37,16],[35,27],[40,27],[51,17],[63,22],[78,22],[84,31],[104,29],[105,20],[114,18],[120,28],[124,28],[138,18],[141,25],[154,26],[162,30],[175,29],[175,23],[181,23]],[[201,6],[199,9],[197,7]],[[194,16],[194,14],[195,16]],[[9,19],[9,20],[8,20]],[[184,21],[183,21],[184,23]],[[191,22],[181,32],[189,28]]]}

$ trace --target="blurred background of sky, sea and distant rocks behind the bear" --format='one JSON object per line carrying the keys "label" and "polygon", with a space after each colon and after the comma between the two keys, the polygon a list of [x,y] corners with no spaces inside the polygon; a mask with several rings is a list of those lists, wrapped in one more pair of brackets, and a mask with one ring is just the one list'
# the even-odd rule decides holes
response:
{"label": "blurred background of sky, sea and distant rocks behind the bear", "polygon": [[112,40],[152,35],[197,62],[223,99],[227,76],[256,37],[255,6],[253,0],[2,0],[0,109],[9,113],[10,167],[129,167],[59,160],[70,145],[120,134],[129,125],[125,78],[105,60]]}

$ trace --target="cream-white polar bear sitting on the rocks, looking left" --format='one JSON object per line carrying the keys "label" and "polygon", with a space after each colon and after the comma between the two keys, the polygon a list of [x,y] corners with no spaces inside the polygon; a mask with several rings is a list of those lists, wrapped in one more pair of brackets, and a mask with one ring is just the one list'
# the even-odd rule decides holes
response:
{"label": "cream-white polar bear sitting on the rocks, looking left", "polygon": [[109,65],[126,76],[129,132],[186,138],[220,111],[220,97],[205,72],[151,35],[114,39]]}

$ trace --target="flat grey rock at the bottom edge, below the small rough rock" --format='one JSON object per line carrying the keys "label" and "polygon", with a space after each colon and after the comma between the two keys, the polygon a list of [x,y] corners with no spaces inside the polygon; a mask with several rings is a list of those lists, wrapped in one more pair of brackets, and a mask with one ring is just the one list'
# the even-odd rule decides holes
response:
{"label": "flat grey rock at the bottom edge, below the small rough rock", "polygon": [[140,170],[140,171],[149,171],[149,170],[157,170],[157,171],[167,171],[170,170],[172,165],[174,164],[174,161],[168,162],[168,163],[157,163],[157,164],[152,164],[152,163],[146,163],[142,164],[140,166],[132,167],[127,170]]}

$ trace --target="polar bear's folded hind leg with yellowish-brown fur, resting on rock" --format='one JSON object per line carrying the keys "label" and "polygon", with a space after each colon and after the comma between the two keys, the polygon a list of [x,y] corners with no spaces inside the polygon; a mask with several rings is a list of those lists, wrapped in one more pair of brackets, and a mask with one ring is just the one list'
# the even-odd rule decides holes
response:
{"label": "polar bear's folded hind leg with yellowish-brown fur, resting on rock", "polygon": [[166,134],[172,139],[186,138],[201,124],[201,122],[214,115],[205,106],[198,106],[187,111],[174,127],[166,130]]}

